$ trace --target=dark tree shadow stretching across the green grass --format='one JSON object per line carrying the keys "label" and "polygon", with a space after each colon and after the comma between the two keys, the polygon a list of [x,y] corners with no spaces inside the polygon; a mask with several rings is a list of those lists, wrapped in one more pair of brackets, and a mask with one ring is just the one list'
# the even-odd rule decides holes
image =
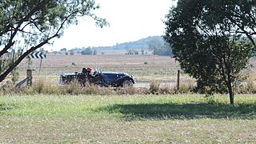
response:
{"label": "dark tree shadow stretching across the green grass", "polygon": [[230,118],[255,119],[256,103],[231,106],[222,103],[198,104],[123,104],[102,107],[99,110],[110,114],[123,114],[126,120],[133,119],[194,119]]}

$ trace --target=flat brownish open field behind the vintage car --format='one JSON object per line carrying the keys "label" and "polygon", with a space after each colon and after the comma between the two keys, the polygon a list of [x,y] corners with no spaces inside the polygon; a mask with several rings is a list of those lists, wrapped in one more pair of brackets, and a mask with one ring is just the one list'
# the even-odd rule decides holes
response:
{"label": "flat brownish open field behind the vintage car", "polygon": [[[98,54],[98,55],[65,55],[48,54],[42,60],[39,74],[40,60],[33,58],[31,68],[34,76],[54,77],[56,74],[80,72],[82,67],[98,67],[102,71],[127,72],[134,75],[138,82],[150,82],[152,79],[169,82],[176,79],[178,63],[173,58],[155,55],[126,55],[126,54]],[[21,77],[26,77],[28,59],[19,65]]]}

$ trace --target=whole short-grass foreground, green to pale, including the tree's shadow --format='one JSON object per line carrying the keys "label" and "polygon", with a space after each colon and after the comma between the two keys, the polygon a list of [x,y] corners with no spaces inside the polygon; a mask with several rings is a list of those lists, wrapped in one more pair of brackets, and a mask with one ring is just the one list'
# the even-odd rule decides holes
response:
{"label": "whole short-grass foreground, green to pale, including the tree's shadow", "polygon": [[0,143],[256,143],[256,95],[0,96]]}

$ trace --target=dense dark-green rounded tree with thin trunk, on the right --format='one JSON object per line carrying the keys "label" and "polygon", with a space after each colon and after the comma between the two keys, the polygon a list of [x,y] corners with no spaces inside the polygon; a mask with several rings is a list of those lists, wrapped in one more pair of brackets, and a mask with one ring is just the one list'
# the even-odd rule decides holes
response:
{"label": "dense dark-green rounded tree with thin trunk, on the right", "polygon": [[[247,0],[179,0],[166,15],[164,38],[198,89],[230,94],[254,51],[256,10]],[[254,45],[254,46],[253,46]]]}

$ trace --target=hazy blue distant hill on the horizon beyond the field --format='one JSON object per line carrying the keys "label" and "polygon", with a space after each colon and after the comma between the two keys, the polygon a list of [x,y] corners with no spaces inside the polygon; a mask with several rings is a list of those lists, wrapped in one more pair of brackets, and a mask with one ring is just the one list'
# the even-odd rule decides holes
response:
{"label": "hazy blue distant hill on the horizon beyond the field", "polygon": [[[98,47],[91,47],[92,49],[95,50],[142,50],[142,49],[148,49],[149,48],[149,42],[152,39],[157,39],[159,42],[164,42],[164,39],[162,36],[152,36],[148,38],[142,38],[139,39],[138,41],[134,42],[124,42],[117,44],[115,46],[98,46]],[[73,50],[83,50],[84,48],[75,48]]]}

